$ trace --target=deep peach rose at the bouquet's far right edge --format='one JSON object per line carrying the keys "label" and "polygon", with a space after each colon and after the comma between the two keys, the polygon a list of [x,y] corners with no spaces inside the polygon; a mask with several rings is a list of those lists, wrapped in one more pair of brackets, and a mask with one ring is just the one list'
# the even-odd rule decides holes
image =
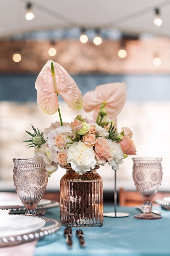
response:
{"label": "deep peach rose at the bouquet's far right edge", "polygon": [[123,137],[122,141],[119,143],[124,154],[136,155],[136,148],[130,136]]}

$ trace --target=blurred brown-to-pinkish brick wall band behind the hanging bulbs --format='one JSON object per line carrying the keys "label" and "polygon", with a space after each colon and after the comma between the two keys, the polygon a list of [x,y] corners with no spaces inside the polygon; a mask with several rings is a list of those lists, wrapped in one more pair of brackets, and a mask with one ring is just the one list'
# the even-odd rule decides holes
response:
{"label": "blurred brown-to-pinkish brick wall band behind the hanging bulbs", "polygon": [[[0,73],[39,73],[46,61],[60,63],[69,73],[168,73],[170,72],[170,39],[150,38],[129,40],[126,43],[128,55],[117,56],[119,42],[104,40],[101,45],[79,40],[62,40],[55,43],[57,54],[50,57],[50,41],[0,41]],[[13,52],[20,50],[22,60],[12,61]],[[160,67],[152,64],[154,54],[162,60]]]}

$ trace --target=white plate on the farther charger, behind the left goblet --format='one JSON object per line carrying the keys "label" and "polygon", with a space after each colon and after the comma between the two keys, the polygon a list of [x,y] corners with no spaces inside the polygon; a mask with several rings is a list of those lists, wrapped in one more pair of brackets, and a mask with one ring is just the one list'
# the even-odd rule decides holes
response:
{"label": "white plate on the farther charger, behind the left goblet", "polygon": [[[47,199],[41,199],[38,206],[42,206],[42,205],[46,205],[46,204],[50,204],[51,201],[47,200]],[[0,193],[0,206],[24,206],[24,204],[22,204],[20,198],[18,197],[17,193]]]}

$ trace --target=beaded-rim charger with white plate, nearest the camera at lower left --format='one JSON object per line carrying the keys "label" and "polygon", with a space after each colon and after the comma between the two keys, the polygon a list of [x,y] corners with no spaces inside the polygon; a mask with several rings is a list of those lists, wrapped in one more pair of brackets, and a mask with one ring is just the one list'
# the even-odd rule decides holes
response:
{"label": "beaded-rim charger with white plate, nearest the camera at lower left", "polygon": [[2,215],[0,218],[0,247],[28,243],[53,234],[61,223],[44,216]]}

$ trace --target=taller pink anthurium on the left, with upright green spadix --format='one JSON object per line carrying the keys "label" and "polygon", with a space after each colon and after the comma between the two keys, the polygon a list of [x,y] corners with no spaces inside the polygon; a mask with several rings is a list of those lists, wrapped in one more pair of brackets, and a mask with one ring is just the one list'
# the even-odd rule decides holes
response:
{"label": "taller pink anthurium on the left, with upright green spadix", "polygon": [[[53,63],[53,69],[52,65]],[[59,109],[58,94],[74,110],[82,109],[82,93],[68,72],[58,63],[47,61],[35,81],[40,109],[52,115]]]}

